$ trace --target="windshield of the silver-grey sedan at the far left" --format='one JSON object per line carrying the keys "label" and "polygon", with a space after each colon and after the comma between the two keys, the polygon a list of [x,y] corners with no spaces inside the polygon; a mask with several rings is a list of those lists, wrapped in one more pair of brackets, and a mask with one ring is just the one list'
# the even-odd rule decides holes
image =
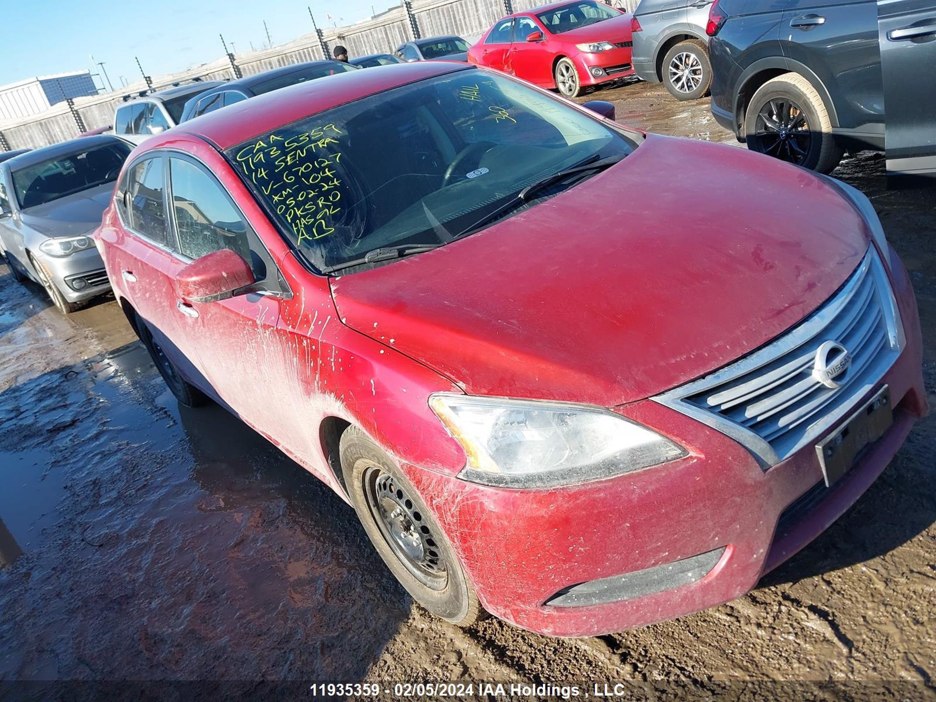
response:
{"label": "windshield of the silver-grey sedan at the far left", "polygon": [[13,190],[24,210],[44,205],[59,197],[116,181],[128,155],[130,147],[115,141],[87,151],[56,156],[14,170]]}

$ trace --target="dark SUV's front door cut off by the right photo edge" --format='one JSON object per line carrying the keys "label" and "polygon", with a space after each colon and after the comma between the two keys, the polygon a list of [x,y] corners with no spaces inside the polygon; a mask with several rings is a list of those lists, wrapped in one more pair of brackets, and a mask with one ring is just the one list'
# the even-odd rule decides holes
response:
{"label": "dark SUV's front door cut off by the right photo edge", "polygon": [[929,78],[936,66],[936,5],[932,0],[882,0],[878,21],[887,170],[936,175],[936,81]]}

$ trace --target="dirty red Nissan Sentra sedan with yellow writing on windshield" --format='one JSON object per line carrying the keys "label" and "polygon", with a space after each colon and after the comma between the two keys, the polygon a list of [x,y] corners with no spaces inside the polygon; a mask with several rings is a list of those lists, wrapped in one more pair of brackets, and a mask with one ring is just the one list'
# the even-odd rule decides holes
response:
{"label": "dirty red Nissan Sentra sedan with yellow writing on windshield", "polygon": [[149,139],[97,237],[179,401],[328,483],[449,622],[583,636],[738,597],[926,411],[867,198],[470,66]]}

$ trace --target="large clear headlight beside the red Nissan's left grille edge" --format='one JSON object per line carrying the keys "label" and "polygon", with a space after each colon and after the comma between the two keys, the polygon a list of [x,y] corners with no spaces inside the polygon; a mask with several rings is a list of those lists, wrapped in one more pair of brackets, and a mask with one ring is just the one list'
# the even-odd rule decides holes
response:
{"label": "large clear headlight beside the red Nissan's left grille edge", "polygon": [[654,431],[577,404],[436,394],[430,406],[468,454],[459,476],[486,485],[568,485],[686,455]]}

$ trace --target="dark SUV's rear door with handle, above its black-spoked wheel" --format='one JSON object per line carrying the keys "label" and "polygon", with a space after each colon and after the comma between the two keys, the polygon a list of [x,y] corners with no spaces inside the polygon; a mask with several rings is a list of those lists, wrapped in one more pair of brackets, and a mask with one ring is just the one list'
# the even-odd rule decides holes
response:
{"label": "dark SUV's rear door with handle, above its black-spoked wheel", "polygon": [[789,0],[780,37],[786,57],[807,66],[825,86],[832,102],[826,108],[839,122],[835,131],[881,145],[884,85],[875,0]]}

